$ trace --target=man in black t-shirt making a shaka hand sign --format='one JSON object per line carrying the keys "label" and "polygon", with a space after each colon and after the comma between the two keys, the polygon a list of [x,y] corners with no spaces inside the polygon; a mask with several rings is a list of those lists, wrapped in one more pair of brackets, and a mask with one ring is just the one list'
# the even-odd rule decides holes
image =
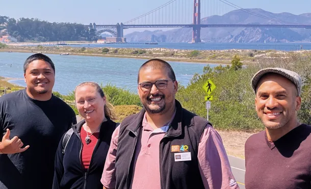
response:
{"label": "man in black t-shirt making a shaka hand sign", "polygon": [[56,149],[75,113],[52,93],[50,58],[34,54],[23,69],[27,87],[0,97],[0,188],[51,188]]}

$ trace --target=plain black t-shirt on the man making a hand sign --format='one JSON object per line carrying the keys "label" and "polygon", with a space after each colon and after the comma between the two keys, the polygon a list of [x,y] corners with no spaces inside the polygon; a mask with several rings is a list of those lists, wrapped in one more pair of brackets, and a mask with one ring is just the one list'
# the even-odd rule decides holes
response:
{"label": "plain black t-shirt on the man making a hand sign", "polygon": [[0,138],[10,129],[10,139],[30,145],[22,153],[0,154],[0,188],[51,188],[56,150],[72,124],[74,111],[55,96],[38,101],[23,89],[0,97]]}

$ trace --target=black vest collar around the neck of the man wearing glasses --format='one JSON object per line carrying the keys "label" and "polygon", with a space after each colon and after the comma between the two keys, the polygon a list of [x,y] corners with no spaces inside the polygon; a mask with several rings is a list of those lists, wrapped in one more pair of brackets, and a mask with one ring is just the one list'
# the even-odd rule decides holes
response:
{"label": "black vest collar around the neck of the man wearing glasses", "polygon": [[[165,137],[175,137],[183,134],[183,107],[177,100],[175,100],[175,105],[176,113],[168,131],[165,134]],[[126,130],[132,131],[136,136],[138,136],[138,130],[142,126],[145,112],[146,109],[143,108],[127,126]]]}

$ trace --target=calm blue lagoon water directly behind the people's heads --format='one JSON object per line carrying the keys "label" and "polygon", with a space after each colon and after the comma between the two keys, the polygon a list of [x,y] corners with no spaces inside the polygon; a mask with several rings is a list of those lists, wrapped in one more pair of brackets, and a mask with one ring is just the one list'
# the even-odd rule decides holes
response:
{"label": "calm blue lagoon water directly behind the people's heads", "polygon": [[[31,53],[0,53],[0,76],[18,78],[10,80],[20,86],[26,86],[23,80],[23,63]],[[98,84],[112,84],[120,88],[137,92],[137,74],[143,59],[110,58],[95,56],[60,56],[46,54],[55,64],[56,80],[54,91],[67,95],[75,86],[85,81]],[[176,79],[187,86],[195,73],[202,74],[207,63],[169,62],[174,69]],[[210,64],[211,67],[217,64]]]}

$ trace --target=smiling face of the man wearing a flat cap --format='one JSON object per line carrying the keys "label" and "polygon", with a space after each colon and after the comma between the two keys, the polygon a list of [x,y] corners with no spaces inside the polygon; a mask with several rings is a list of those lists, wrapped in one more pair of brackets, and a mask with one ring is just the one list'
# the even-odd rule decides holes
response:
{"label": "smiling face of the man wearing a flat cap", "polygon": [[295,85],[278,74],[264,76],[257,85],[255,105],[258,117],[268,129],[297,124],[301,98]]}

